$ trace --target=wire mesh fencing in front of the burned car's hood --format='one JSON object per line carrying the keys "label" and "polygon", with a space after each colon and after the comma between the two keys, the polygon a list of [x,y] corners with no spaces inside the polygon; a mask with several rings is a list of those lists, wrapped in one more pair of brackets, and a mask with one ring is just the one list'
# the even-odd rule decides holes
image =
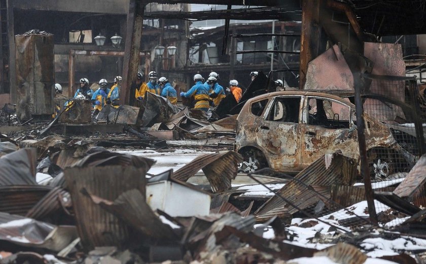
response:
{"label": "wire mesh fencing in front of the burned car's hood", "polygon": [[[415,78],[364,75],[370,85],[363,92],[366,138],[373,122],[381,125],[382,144],[367,149],[374,192],[392,191],[403,181],[424,153],[422,114]],[[373,140],[374,139],[371,139]],[[368,146],[367,142],[367,146]],[[375,203],[378,221],[391,228],[408,215]]]}

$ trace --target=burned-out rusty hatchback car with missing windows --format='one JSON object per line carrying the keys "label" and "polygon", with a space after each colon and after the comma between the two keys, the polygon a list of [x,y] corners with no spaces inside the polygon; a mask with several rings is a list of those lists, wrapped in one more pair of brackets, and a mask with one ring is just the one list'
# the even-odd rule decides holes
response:
{"label": "burned-out rusty hatchback car with missing windows", "polygon": [[[324,154],[340,150],[359,159],[355,106],[348,92],[282,91],[248,100],[237,118],[235,150],[241,170],[269,167],[296,173]],[[366,143],[373,175],[408,171],[414,157],[386,124],[365,114]]]}

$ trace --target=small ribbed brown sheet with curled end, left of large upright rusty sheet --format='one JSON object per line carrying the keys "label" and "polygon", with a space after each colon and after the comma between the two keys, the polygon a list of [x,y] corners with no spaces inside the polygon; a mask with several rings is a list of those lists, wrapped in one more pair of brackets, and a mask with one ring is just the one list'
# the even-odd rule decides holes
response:
{"label": "small ribbed brown sheet with curled end, left of large upright rusty sheet", "polygon": [[71,205],[71,197],[66,190],[55,187],[49,191],[37,204],[35,204],[26,214],[33,219],[42,219],[62,208],[62,203]]}

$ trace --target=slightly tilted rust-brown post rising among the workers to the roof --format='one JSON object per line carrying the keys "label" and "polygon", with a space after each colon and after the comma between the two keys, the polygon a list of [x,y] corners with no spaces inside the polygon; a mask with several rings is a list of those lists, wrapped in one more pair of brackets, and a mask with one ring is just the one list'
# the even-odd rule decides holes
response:
{"label": "slightly tilted rust-brown post rising among the workers to the roof", "polygon": [[130,96],[132,96],[130,94],[130,86],[136,80],[146,4],[146,2],[136,0],[130,0],[129,4],[126,44],[124,47],[123,83],[120,91],[120,102],[123,105],[129,104]]}

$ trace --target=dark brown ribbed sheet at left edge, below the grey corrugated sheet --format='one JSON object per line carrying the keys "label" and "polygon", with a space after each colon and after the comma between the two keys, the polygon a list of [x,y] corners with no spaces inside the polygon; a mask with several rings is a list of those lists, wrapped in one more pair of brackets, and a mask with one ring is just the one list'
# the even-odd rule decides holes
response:
{"label": "dark brown ribbed sheet at left edge, below the grey corrugated sheet", "polygon": [[26,215],[50,190],[50,186],[0,186],[0,212]]}

